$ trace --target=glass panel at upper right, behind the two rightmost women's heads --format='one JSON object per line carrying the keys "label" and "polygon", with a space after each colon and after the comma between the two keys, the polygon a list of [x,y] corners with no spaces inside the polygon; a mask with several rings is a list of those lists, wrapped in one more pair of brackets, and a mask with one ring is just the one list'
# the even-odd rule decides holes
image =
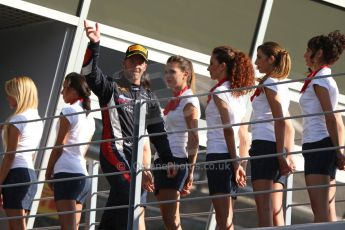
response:
{"label": "glass panel at upper right, behind the two rightmost women's heads", "polygon": [[[327,15],[326,17],[324,15]],[[265,41],[277,41],[292,57],[291,78],[302,78],[306,72],[303,54],[313,36],[334,30],[345,32],[345,10],[307,0],[276,0],[267,28]],[[345,72],[345,57],[334,65],[333,73]],[[344,77],[335,78],[341,93],[345,93]]]}

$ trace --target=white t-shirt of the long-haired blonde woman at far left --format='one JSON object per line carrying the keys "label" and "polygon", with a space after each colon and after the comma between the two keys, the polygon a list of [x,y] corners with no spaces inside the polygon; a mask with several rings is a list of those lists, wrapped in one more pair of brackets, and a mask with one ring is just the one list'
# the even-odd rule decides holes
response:
{"label": "white t-shirt of the long-haired blonde woman at far left", "polygon": [[[28,121],[40,119],[37,109],[28,109],[21,114],[11,117],[10,122]],[[16,151],[38,148],[42,138],[43,122],[26,122],[13,124],[19,130],[19,140]],[[30,168],[33,166],[33,155],[36,151],[16,153],[11,169],[13,168]]]}

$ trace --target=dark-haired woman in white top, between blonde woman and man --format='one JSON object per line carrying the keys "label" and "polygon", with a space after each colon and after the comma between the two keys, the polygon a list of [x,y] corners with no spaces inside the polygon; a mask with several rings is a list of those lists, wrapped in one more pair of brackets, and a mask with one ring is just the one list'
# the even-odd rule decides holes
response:
{"label": "dark-haired woman in white top, between blonde woman and man", "polygon": [[[55,146],[71,145],[91,141],[95,121],[90,110],[90,95],[85,77],[70,73],[66,76],[61,91],[66,105],[61,114]],[[84,112],[76,115],[73,113]],[[56,147],[52,150],[46,180],[87,176],[85,154],[88,145]],[[90,178],[54,182],[54,200],[57,211],[80,211],[90,191]],[[68,188],[68,189],[66,189]],[[78,229],[81,213],[59,215],[62,229]]]}

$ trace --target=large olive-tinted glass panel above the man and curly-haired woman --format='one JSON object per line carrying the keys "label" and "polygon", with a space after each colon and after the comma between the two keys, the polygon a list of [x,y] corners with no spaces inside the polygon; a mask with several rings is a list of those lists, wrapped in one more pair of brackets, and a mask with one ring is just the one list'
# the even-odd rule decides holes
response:
{"label": "large olive-tinted glass panel above the man and curly-haired woman", "polygon": [[88,18],[106,25],[209,54],[229,44],[249,52],[260,1],[92,1]]}

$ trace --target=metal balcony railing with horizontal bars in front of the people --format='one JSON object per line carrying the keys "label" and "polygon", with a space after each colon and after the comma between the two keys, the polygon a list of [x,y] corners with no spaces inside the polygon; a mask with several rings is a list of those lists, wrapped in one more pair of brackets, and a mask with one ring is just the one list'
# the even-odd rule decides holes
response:
{"label": "metal balcony railing with horizontal bars in front of the people", "polygon": [[[334,74],[334,75],[327,75],[327,76],[322,76],[322,77],[315,77],[315,78],[325,78],[329,76],[333,77],[338,77],[342,76],[344,74]],[[272,83],[268,85],[277,85],[277,84],[287,84],[291,82],[296,82],[296,81],[302,81],[304,79],[297,79],[297,80],[291,80],[291,81],[284,81],[284,82],[278,82],[278,83]],[[257,88],[258,86],[253,86],[253,87],[245,87],[241,89],[253,89]],[[259,86],[261,87],[261,86]],[[241,89],[236,89],[236,90],[241,90]],[[234,90],[227,90],[223,92],[232,92]],[[217,93],[223,93],[223,92],[217,92]],[[211,94],[217,94],[217,93],[211,93]],[[209,95],[210,93],[205,93],[205,94],[197,94],[193,96],[206,96]],[[186,98],[186,97],[192,97],[192,96],[183,96],[180,98]],[[158,101],[166,101],[170,100],[170,98],[161,98],[157,99]],[[143,156],[143,138],[144,137],[150,137],[150,136],[158,136],[162,134],[171,134],[171,133],[182,133],[186,131],[202,131],[202,130],[208,130],[208,129],[220,129],[224,127],[233,127],[233,126],[240,126],[240,125],[250,125],[250,124],[255,124],[255,123],[263,123],[263,122],[272,122],[272,121],[277,121],[277,120],[285,120],[285,119],[296,119],[296,118],[303,118],[303,117],[308,117],[308,116],[320,116],[320,115],[325,115],[329,113],[338,113],[338,112],[344,112],[345,110],[334,110],[334,111],[327,111],[323,113],[315,113],[315,114],[309,114],[309,115],[296,115],[296,116],[290,116],[290,117],[281,117],[281,118],[273,118],[273,119],[267,119],[267,120],[261,120],[261,121],[248,121],[248,122],[242,122],[242,123],[236,123],[236,124],[228,124],[228,125],[221,125],[221,126],[214,126],[214,127],[205,127],[205,128],[197,128],[197,129],[187,129],[187,130],[178,130],[174,132],[166,132],[166,133],[155,133],[155,134],[146,134],[145,133],[145,114],[146,114],[146,103],[149,102],[149,100],[136,100],[131,104],[123,104],[120,106],[127,106],[127,105],[134,105],[135,108],[135,128],[134,128],[134,136],[133,137],[126,137],[126,138],[114,138],[114,139],[107,139],[107,140],[96,140],[96,141],[90,141],[90,142],[85,142],[85,143],[77,143],[77,144],[72,144],[72,145],[60,145],[60,146],[44,146],[44,147],[39,147],[37,149],[26,149],[26,150],[20,150],[20,151],[11,151],[11,152],[1,152],[0,155],[4,154],[14,154],[18,152],[28,152],[28,151],[41,151],[41,150],[49,150],[53,149],[56,147],[70,147],[70,146],[77,146],[77,145],[89,145],[89,144],[100,144],[103,142],[113,142],[117,140],[125,140],[125,139],[133,139],[134,143],[134,151],[132,154],[132,162],[131,162],[131,169],[130,171],[123,171],[123,172],[116,172],[116,173],[103,173],[99,174],[99,163],[96,160],[89,160],[88,165],[89,165],[89,176],[83,176],[83,177],[74,177],[74,178],[68,178],[68,179],[54,179],[54,180],[45,180],[45,181],[34,181],[34,182],[28,182],[28,183],[18,183],[18,184],[11,184],[11,185],[0,185],[0,188],[6,188],[6,187],[14,187],[14,186],[22,186],[22,185],[29,185],[29,184],[40,184],[40,183],[48,183],[48,182],[58,182],[58,181],[67,181],[67,180],[73,180],[76,178],[91,178],[92,179],[92,188],[90,191],[90,195],[88,197],[88,202],[85,207],[85,209],[77,212],[85,213],[86,215],[86,220],[83,226],[85,226],[88,229],[95,229],[97,226],[96,222],[96,212],[98,211],[103,211],[103,210],[109,210],[109,209],[121,209],[121,208],[128,208],[128,229],[138,229],[139,225],[139,207],[142,206],[157,206],[162,203],[173,203],[173,202],[187,202],[187,201],[200,201],[200,200],[205,200],[205,199],[212,199],[212,198],[220,198],[220,197],[229,197],[231,195],[236,195],[236,196],[253,196],[256,194],[263,194],[263,193],[272,193],[272,192],[286,192],[286,200],[285,200],[285,221],[286,225],[291,224],[291,215],[292,215],[292,207],[300,206],[300,205],[309,205],[309,203],[301,203],[301,204],[293,204],[292,203],[292,193],[293,191],[301,191],[301,190],[306,190],[306,189],[311,189],[311,188],[325,188],[325,187],[332,187],[332,186],[344,186],[344,183],[338,183],[336,185],[318,185],[318,186],[304,186],[304,187],[293,187],[293,175],[290,174],[287,179],[287,185],[286,188],[281,189],[281,190],[266,190],[266,191],[246,191],[243,193],[237,193],[237,194],[223,194],[223,195],[212,195],[212,196],[201,196],[201,197],[191,197],[191,198],[181,198],[180,200],[167,200],[167,201],[160,201],[160,202],[147,202],[147,203],[140,203],[140,195],[141,195],[141,173],[144,170],[140,166],[142,166],[142,156]],[[114,107],[109,107],[109,108],[101,108],[101,109],[96,109],[96,110],[91,110],[90,112],[97,112],[100,110],[109,110],[109,109],[116,109],[119,108],[120,106],[114,106]],[[68,116],[73,116],[80,114],[79,113],[74,113],[74,114],[69,114]],[[39,121],[39,120],[48,120],[48,119],[56,119],[60,118],[61,115],[59,116],[51,116],[51,117],[46,117],[42,119],[35,119],[35,120],[30,120],[27,122],[34,122],[34,121]],[[8,124],[15,124],[15,123],[22,123],[22,122],[4,122],[0,123],[0,125],[8,125]],[[335,147],[329,147],[329,148],[321,148],[321,149],[314,149],[314,150],[304,150],[304,151],[294,151],[290,152],[289,154],[309,154],[312,152],[317,152],[317,151],[324,151],[324,150],[336,150],[336,149],[343,149],[344,146],[335,146]],[[202,151],[200,151],[201,153]],[[204,153],[204,152],[203,152]],[[232,161],[240,161],[240,160],[248,160],[248,159],[260,159],[260,158],[267,158],[267,157],[277,157],[279,155],[285,155],[286,153],[276,153],[276,154],[270,154],[270,155],[265,155],[265,156],[255,156],[255,157],[242,157],[242,158],[237,158],[237,159],[231,159],[231,160],[221,160],[221,161],[211,161],[211,162],[198,162],[196,164],[193,164],[195,167],[203,167],[205,169],[207,165],[212,164],[212,163],[220,163],[220,162],[232,162]],[[191,166],[192,164],[187,164],[187,166]],[[139,167],[138,167],[139,166]],[[184,166],[185,167],[185,166]],[[157,167],[152,167],[150,170],[159,170],[162,169],[162,167],[157,168]],[[45,170],[44,166],[43,168],[36,169],[36,170]],[[97,191],[97,185],[98,185],[98,178],[99,177],[104,177],[104,176],[110,176],[110,175],[121,175],[124,173],[130,173],[131,175],[131,186],[130,186],[130,197],[129,197],[129,205],[122,205],[122,206],[114,206],[114,207],[103,207],[103,208],[97,208],[97,197],[100,193],[107,193],[107,191]],[[299,172],[298,172],[299,173]],[[248,177],[250,178],[250,177]],[[205,184],[207,181],[196,181],[194,184]],[[49,200],[53,199],[52,197],[44,197],[38,199],[39,201],[42,200]],[[36,201],[38,201],[36,200]],[[344,202],[344,200],[337,200],[337,202]],[[249,212],[249,211],[255,211],[254,208],[243,208],[243,209],[235,209],[235,213],[240,213],[240,212]],[[67,212],[52,212],[52,213],[44,213],[44,214],[36,214],[36,213],[31,213],[28,215],[26,218],[33,218],[33,217],[43,217],[43,216],[53,216],[53,215],[63,215],[63,214],[70,214],[74,213],[75,211],[67,211]],[[191,217],[191,216],[212,216],[214,215],[214,211],[211,209],[209,212],[201,212],[201,213],[183,213],[181,214],[181,217]],[[10,220],[10,219],[19,219],[22,218],[21,216],[18,217],[4,217],[0,218],[0,221],[2,220]],[[157,220],[161,219],[161,216],[156,216],[156,217],[147,217],[146,220],[152,221],[152,220]],[[209,221],[207,228],[211,229],[214,224],[210,224],[212,220]],[[213,220],[214,222],[214,220]],[[40,229],[56,229],[59,227],[47,227],[47,228],[42,228]]]}

